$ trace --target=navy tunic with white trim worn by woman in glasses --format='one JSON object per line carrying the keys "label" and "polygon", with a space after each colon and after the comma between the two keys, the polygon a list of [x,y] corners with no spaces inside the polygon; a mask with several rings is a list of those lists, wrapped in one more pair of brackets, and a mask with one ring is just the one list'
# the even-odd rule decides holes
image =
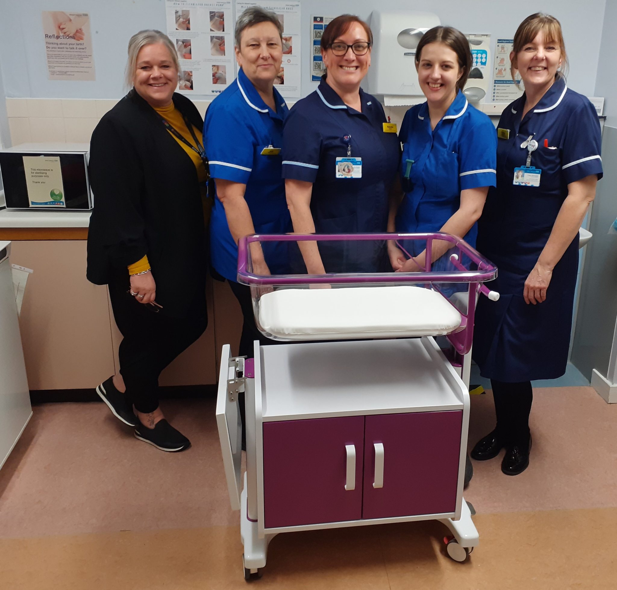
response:
{"label": "navy tunic with white trim worn by woman in glasses", "polygon": [[[399,140],[395,132],[384,129],[386,115],[379,101],[362,88],[360,103],[362,112],[347,106],[322,80],[315,92],[294,104],[285,120],[283,177],[313,183],[310,208],[318,234],[385,232],[387,228]],[[340,173],[337,158],[348,156],[362,160],[359,177]],[[322,259],[329,258],[327,250],[320,244]],[[346,268],[339,264],[335,269],[334,259],[328,268],[324,260],[326,271],[367,270],[377,264],[378,253],[358,249],[346,255]]]}

